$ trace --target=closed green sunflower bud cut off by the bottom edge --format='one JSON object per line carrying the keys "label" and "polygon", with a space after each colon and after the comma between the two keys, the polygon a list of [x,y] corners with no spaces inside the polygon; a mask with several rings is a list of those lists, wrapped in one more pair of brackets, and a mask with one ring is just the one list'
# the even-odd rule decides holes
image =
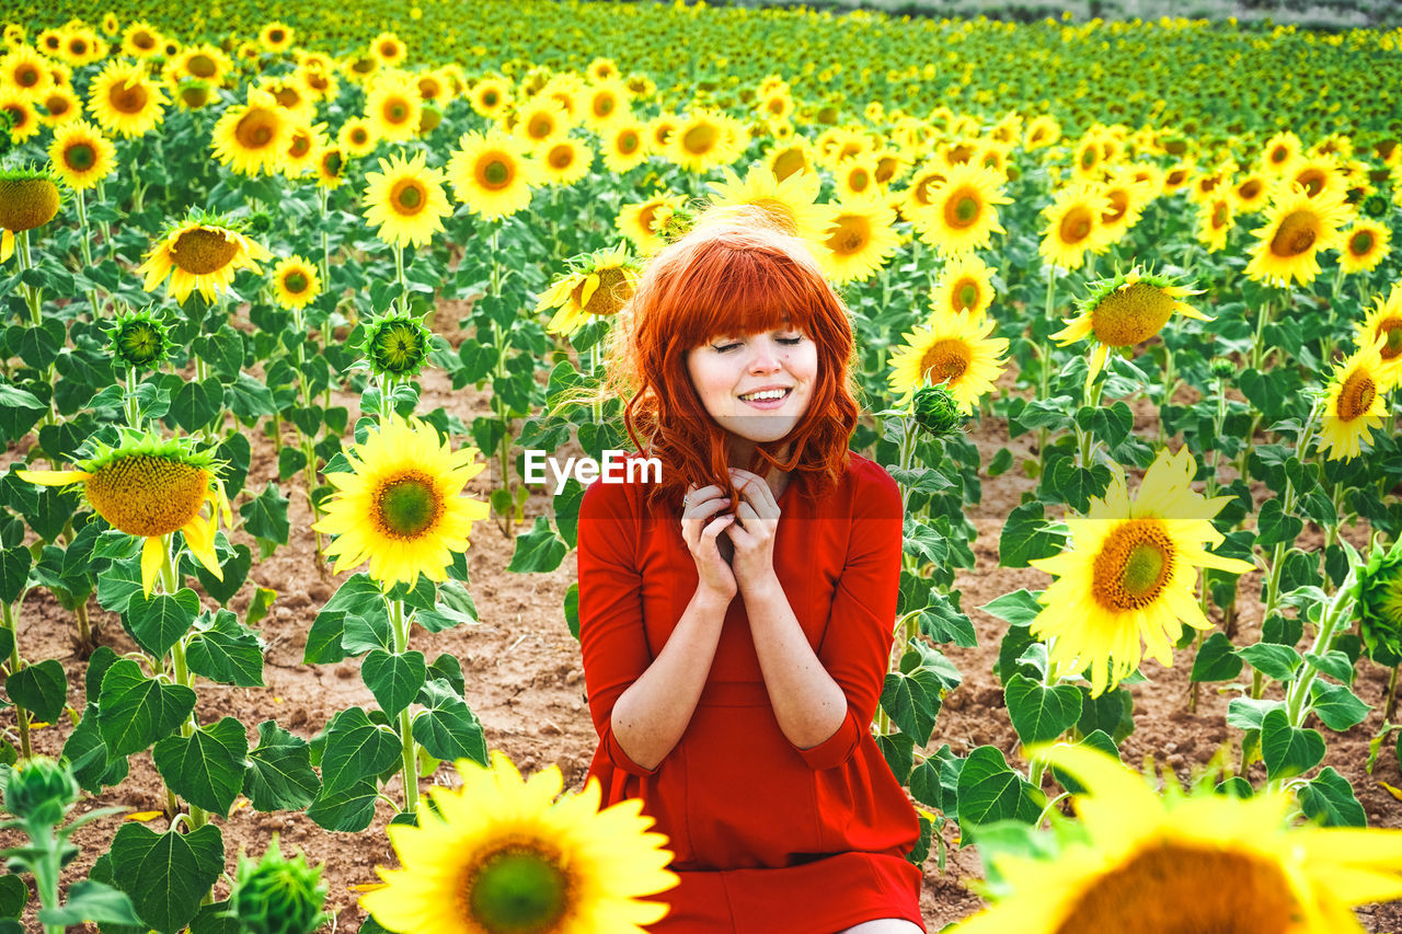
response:
{"label": "closed green sunflower bud cut off by the bottom edge", "polygon": [[311,934],[331,920],[325,902],[321,867],[308,867],[301,853],[285,858],[273,834],[258,862],[240,855],[229,913],[247,934]]}

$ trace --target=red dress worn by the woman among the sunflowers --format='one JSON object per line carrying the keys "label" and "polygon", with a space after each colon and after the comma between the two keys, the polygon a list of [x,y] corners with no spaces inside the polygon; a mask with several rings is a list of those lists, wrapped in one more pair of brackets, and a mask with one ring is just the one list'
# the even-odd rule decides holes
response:
{"label": "red dress worn by the woman among the sunflowers", "polygon": [[[798,477],[795,475],[795,481]],[[641,798],[681,882],[653,934],[831,934],[880,917],[920,924],[921,872],[904,854],[916,811],[868,725],[886,675],[900,581],[901,505],[858,454],[819,502],[791,482],[774,569],[847,719],[812,749],[778,726],[740,595],[730,602],[695,712],[649,771],[613,736],[618,696],[652,663],[697,589],[680,515],[642,484],[594,482],[579,512],[579,639],[604,804]]]}

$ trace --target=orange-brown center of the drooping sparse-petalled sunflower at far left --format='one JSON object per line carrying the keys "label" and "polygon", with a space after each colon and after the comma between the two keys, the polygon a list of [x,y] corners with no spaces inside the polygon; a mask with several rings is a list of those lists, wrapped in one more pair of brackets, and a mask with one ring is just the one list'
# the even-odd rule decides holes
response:
{"label": "orange-brown center of the drooping sparse-petalled sunflower at far left", "polygon": [[97,513],[129,536],[164,536],[199,515],[209,471],[168,457],[128,454],[93,471],[84,491]]}

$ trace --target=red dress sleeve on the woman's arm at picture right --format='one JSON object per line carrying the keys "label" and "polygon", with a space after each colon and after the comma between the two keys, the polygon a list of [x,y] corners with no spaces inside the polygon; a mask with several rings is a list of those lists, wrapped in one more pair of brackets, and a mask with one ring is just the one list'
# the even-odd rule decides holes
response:
{"label": "red dress sleeve on the woman's arm at picture right", "polygon": [[795,750],[810,769],[847,762],[880,701],[900,592],[900,488],[876,464],[864,464],[852,501],[847,561],[833,593],[817,658],[847,696],[847,718],[817,746]]}

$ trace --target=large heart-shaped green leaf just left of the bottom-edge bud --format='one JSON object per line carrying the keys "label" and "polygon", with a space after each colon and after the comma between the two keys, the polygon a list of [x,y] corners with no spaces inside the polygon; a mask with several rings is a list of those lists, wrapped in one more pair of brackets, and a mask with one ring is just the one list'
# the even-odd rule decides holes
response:
{"label": "large heart-shaped green leaf just left of the bottom-edge bud", "polygon": [[177,934],[224,869],[224,834],[206,823],[189,833],[156,833],[125,823],[112,839],[112,881],[161,934]]}

